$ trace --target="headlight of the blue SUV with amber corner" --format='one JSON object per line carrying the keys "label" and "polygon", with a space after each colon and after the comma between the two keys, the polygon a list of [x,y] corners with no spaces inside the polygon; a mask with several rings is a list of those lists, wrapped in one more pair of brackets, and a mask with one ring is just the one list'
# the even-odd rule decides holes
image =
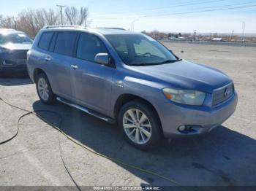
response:
{"label": "headlight of the blue SUV with amber corner", "polygon": [[206,98],[206,93],[196,90],[176,90],[165,88],[162,91],[167,99],[178,104],[201,106]]}

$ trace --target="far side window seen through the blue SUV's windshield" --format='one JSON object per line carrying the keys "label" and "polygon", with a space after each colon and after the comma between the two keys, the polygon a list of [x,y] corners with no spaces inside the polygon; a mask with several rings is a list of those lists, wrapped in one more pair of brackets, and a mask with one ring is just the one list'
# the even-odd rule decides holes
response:
{"label": "far side window seen through the blue SUV's windshield", "polygon": [[139,44],[134,44],[134,47],[137,55],[146,55],[147,52],[150,52],[151,55],[165,59],[165,55],[162,52],[144,39]]}

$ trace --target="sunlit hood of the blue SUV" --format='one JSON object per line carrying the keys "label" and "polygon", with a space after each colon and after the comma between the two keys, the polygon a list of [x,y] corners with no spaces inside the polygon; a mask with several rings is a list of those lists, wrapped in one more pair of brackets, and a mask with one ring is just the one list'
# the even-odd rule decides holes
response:
{"label": "sunlit hood of the blue SUV", "polygon": [[154,66],[132,66],[132,69],[167,83],[170,87],[200,90],[206,93],[232,82],[222,71],[188,61]]}

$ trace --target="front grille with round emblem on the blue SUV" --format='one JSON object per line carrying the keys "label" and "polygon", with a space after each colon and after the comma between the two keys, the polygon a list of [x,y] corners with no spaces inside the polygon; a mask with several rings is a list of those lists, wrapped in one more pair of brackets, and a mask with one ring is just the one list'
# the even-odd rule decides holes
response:
{"label": "front grille with round emblem on the blue SUV", "polygon": [[225,85],[224,87],[220,87],[217,90],[214,90],[212,106],[217,106],[218,104],[221,104],[222,102],[229,99],[234,93],[235,88],[233,83]]}

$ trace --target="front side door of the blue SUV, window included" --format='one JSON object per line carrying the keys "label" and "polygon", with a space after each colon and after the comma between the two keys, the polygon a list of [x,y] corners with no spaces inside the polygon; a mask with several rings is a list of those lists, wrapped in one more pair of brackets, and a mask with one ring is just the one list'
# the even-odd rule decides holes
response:
{"label": "front side door of the blue SUV, window included", "polygon": [[105,44],[93,34],[81,33],[71,75],[73,96],[79,104],[107,114],[110,108],[115,68],[94,62],[98,53],[108,53]]}

